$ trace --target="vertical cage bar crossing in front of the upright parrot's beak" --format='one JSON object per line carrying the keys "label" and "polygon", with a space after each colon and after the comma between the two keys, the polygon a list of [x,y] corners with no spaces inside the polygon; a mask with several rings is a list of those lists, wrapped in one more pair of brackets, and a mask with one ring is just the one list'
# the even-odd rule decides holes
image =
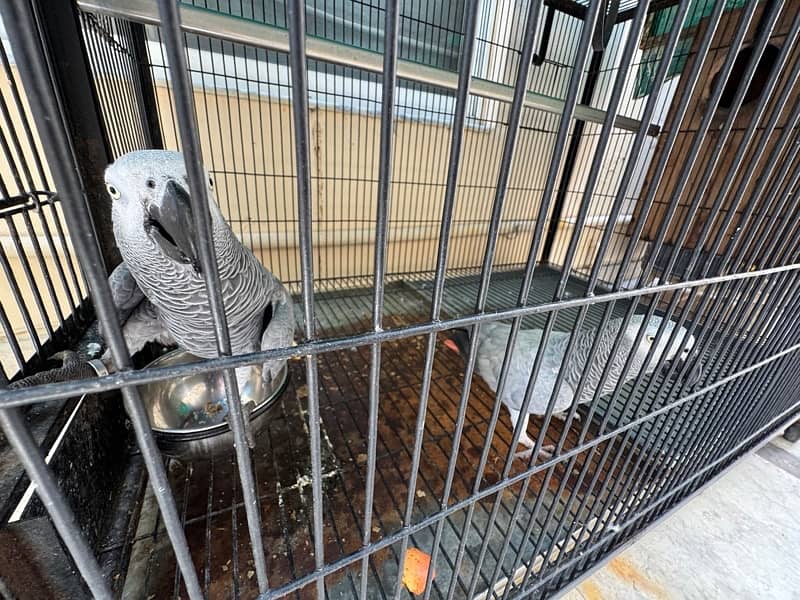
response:
{"label": "vertical cage bar crossing in front of the upright parrot's beak", "polygon": [[[180,10],[174,0],[159,0],[159,14],[167,49],[172,87],[175,95],[175,111],[181,135],[181,144],[186,173],[189,178],[190,201],[192,214],[197,227],[199,242],[199,258],[203,268],[203,277],[208,292],[209,307],[214,318],[214,329],[217,338],[217,350],[220,356],[230,356],[231,343],[228,331],[225,305],[222,299],[217,256],[213,248],[211,231],[211,215],[208,204],[208,187],[202,166],[200,139],[197,133],[194,92],[186,66],[186,49],[181,31]],[[253,550],[253,562],[258,579],[258,588],[265,593],[269,588],[267,581],[266,556],[261,537],[261,516],[258,493],[253,475],[253,464],[247,442],[247,427],[244,410],[239,397],[239,388],[232,369],[223,371],[225,393],[228,397],[230,414],[228,422],[235,439],[236,462],[239,478],[242,483],[247,527],[250,533],[250,545]]]}

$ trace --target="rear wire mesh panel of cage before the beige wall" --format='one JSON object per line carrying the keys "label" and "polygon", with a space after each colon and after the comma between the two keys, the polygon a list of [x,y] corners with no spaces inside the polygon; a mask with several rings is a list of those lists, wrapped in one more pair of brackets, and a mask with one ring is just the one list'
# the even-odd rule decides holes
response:
{"label": "rear wire mesh panel of cage before the beige wall", "polygon": [[[421,9],[409,5],[401,10],[401,29],[414,30],[424,24],[433,27],[431,23],[439,18],[460,22],[458,11],[461,9],[455,6],[457,3],[445,4],[447,6],[441,11],[428,7],[430,12],[424,21],[415,12]],[[260,12],[261,7],[249,5],[203,6],[224,14],[285,26],[285,10],[278,5],[264,8],[266,16]],[[358,17],[358,35],[349,29],[326,25],[323,21],[312,22],[310,17],[308,33],[380,51],[379,28],[369,25],[368,15],[372,14],[376,23],[382,22],[384,9],[377,5],[369,10],[366,5],[361,8],[366,12],[363,18]],[[338,6],[317,7],[315,12],[311,7],[308,10],[309,14],[332,15],[339,14],[340,9],[347,13],[345,8]],[[481,7],[476,25],[474,76],[505,85],[513,84],[522,43],[520,23],[524,22],[525,13],[524,5],[492,7],[487,3]],[[96,29],[98,17],[83,18],[93,24],[87,31]],[[555,29],[570,43],[558,46],[540,44],[537,49],[550,54],[543,54],[541,64],[531,73],[529,89],[532,92],[553,97],[564,95],[574,61],[573,42],[577,40],[580,23],[580,19],[554,12],[553,24],[549,27],[545,26],[544,20],[537,24],[542,30],[539,35],[544,35],[546,28]],[[504,27],[508,31],[498,31]],[[446,28],[441,28],[436,39],[445,33],[448,33]],[[450,37],[454,34],[448,33]],[[407,39],[417,35],[420,33],[408,33]],[[425,40],[425,35],[421,35]],[[162,34],[155,27],[147,27],[146,38],[147,63],[164,144],[165,147],[180,148]],[[622,39],[624,36],[617,34],[612,44],[619,46]],[[437,44],[439,42],[428,44],[423,41],[423,47],[417,49],[404,49],[401,44],[400,57],[447,68],[446,64],[441,64],[442,59],[425,51],[428,45],[433,47]],[[293,284],[299,278],[300,266],[296,260],[297,215],[291,201],[285,201],[293,197],[292,156],[290,149],[282,143],[290,135],[287,105],[290,84],[286,55],[193,34],[186,36],[186,45],[188,68],[196,86],[195,104],[199,111],[204,160],[219,180],[218,193],[226,216],[265,264],[272,265],[285,282]],[[613,57],[614,54],[607,56]],[[610,62],[613,58],[607,60]],[[99,59],[95,61],[100,62]],[[614,69],[613,64],[606,65],[602,69],[603,77],[608,80]],[[349,282],[346,285],[365,284],[371,277],[374,242],[371,221],[374,207],[370,203],[375,198],[376,163],[379,160],[376,145],[380,81],[375,74],[363,69],[321,60],[311,60],[309,70],[312,108],[309,118],[314,148],[311,177],[316,191],[315,202],[321,207],[315,219],[314,232],[318,240],[315,251],[317,285],[329,289],[341,287],[345,282]],[[96,76],[98,90],[101,90],[106,74],[99,71]],[[435,266],[432,258],[438,244],[437,225],[446,174],[447,153],[440,150],[446,149],[446,127],[452,123],[454,96],[448,89],[404,79],[398,79],[396,85],[397,144],[403,151],[395,155],[393,185],[395,194],[402,201],[394,203],[390,218],[388,276],[430,276]],[[110,101],[105,100],[103,94],[100,96],[106,110],[110,108],[110,112],[116,114],[117,102],[113,96],[108,94],[112,98]],[[592,103],[591,98],[589,103]],[[602,99],[598,104],[602,105]],[[475,272],[481,264],[483,242],[480,237],[491,217],[490,198],[497,178],[509,108],[507,102],[480,97],[469,100],[463,160],[464,173],[470,180],[458,190],[459,195],[463,194],[465,198],[456,203],[450,270]],[[636,116],[633,104],[620,112]],[[520,145],[524,152],[520,156],[527,158],[518,160],[543,165],[543,157],[555,139],[558,117],[526,110],[523,119]],[[618,151],[616,161],[622,159],[619,154]],[[503,236],[498,249],[498,269],[524,265],[530,242],[525,234],[535,226],[535,219],[531,218],[535,211],[531,211],[530,206],[538,201],[536,196],[541,193],[547,176],[544,167],[514,169],[513,172],[514,179],[509,184],[511,197],[501,224]],[[614,181],[608,185],[613,185]],[[264,206],[261,199],[265,197],[279,201]],[[594,219],[599,222],[602,217],[598,214]],[[348,223],[348,226],[343,229],[341,223]],[[569,228],[568,223],[565,227]]]}

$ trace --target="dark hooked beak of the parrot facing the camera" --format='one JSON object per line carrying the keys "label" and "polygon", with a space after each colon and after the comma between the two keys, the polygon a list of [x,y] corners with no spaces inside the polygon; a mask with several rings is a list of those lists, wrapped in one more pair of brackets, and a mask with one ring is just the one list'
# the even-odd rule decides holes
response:
{"label": "dark hooked beak of the parrot facing the camera", "polygon": [[186,188],[173,180],[168,181],[158,204],[153,204],[149,212],[146,228],[150,236],[172,260],[192,265],[199,274],[192,206]]}

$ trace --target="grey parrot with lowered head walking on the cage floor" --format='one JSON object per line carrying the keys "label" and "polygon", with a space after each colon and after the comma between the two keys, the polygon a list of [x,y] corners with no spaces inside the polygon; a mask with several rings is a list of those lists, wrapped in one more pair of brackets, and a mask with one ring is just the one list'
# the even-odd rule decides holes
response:
{"label": "grey parrot with lowered head walking on the cage floor", "polygon": [[[625,330],[625,335],[620,341],[619,349],[612,359],[611,370],[603,385],[601,395],[610,394],[614,391],[625,362],[633,349],[636,335],[643,320],[644,317],[642,315],[631,317]],[[625,381],[635,378],[642,370],[647,353],[650,351],[661,326],[661,321],[661,317],[651,317],[647,324],[645,335],[636,349],[635,357]],[[600,334],[598,349],[592,364],[589,366],[586,384],[581,397],[578,399],[579,404],[591,402],[594,397],[595,390],[600,383],[600,378],[608,363],[614,341],[621,327],[622,319],[611,319]],[[688,336],[687,338],[688,332],[683,327],[680,328],[675,342],[666,351],[666,356],[664,356],[674,327],[675,323],[673,321],[667,323],[665,332],[653,352],[653,357],[644,369],[645,373],[652,373],[662,361],[662,358],[663,360],[672,360],[679,354],[684,360],[688,357],[691,348],[694,346],[694,336]],[[500,378],[500,370],[503,366],[503,358],[510,334],[511,325],[505,323],[492,322],[481,326],[476,356],[476,371],[494,392],[497,392],[497,383]],[[570,362],[566,366],[564,381],[559,389],[553,413],[562,413],[572,406],[576,388],[586,368],[589,352],[596,335],[597,330],[595,328],[582,329],[578,334],[578,339],[570,356]],[[542,366],[534,384],[533,395],[528,405],[528,413],[523,419],[522,433],[519,438],[519,442],[528,448],[535,446],[535,442],[527,434],[528,419],[531,414],[543,415],[546,413],[547,404],[555,388],[556,378],[561,370],[571,336],[571,333],[554,331],[548,339],[547,348],[542,358]],[[525,398],[525,390],[528,387],[528,380],[533,371],[533,364],[541,340],[541,329],[523,329],[517,334],[503,397],[500,399],[508,408],[511,422],[515,428],[519,420],[520,409]],[[450,337],[445,340],[445,345],[466,359],[469,352],[469,342],[470,338],[467,330],[455,329],[450,332]],[[543,447],[542,455],[548,456],[550,448]]]}

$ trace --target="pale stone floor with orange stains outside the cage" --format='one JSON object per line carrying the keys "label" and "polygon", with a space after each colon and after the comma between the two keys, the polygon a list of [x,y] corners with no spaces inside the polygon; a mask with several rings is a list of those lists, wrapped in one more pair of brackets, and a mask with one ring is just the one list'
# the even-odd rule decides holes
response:
{"label": "pale stone floor with orange stains outside the cage", "polygon": [[744,458],[563,598],[800,598],[800,442]]}

